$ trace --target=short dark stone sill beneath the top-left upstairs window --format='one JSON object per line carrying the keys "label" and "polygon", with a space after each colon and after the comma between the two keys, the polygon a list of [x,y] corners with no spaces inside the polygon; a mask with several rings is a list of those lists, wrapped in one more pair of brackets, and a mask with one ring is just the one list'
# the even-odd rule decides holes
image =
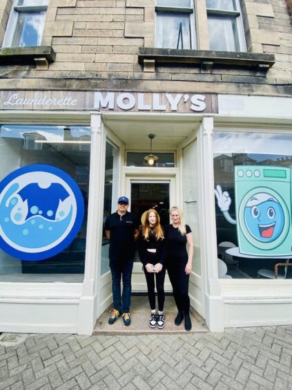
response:
{"label": "short dark stone sill beneath the top-left upstairs window", "polygon": [[55,62],[56,53],[51,46],[26,46],[21,48],[1,48],[0,65],[31,65],[39,69],[48,69]]}

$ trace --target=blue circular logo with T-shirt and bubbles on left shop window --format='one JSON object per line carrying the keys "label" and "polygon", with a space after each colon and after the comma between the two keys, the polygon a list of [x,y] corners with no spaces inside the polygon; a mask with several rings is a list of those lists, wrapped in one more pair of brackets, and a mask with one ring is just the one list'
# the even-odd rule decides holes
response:
{"label": "blue circular logo with T-shirt and bubbles on left shop window", "polygon": [[21,260],[43,260],[66,248],[81,227],[84,199],[66,172],[28,165],[0,183],[0,248]]}

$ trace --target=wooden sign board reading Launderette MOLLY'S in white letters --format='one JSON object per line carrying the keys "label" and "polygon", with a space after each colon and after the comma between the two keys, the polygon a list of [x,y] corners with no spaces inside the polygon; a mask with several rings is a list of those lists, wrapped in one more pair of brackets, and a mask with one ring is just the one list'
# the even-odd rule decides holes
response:
{"label": "wooden sign board reading Launderette MOLLY'S in white letters", "polygon": [[133,91],[0,91],[2,110],[217,113],[217,95]]}

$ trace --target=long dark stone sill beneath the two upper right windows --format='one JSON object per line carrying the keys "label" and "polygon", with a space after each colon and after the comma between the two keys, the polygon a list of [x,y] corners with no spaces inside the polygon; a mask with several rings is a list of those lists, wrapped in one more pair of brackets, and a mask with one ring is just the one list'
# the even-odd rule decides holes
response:
{"label": "long dark stone sill beneath the two upper right windows", "polygon": [[266,72],[275,64],[275,56],[265,53],[139,48],[138,61],[144,65],[144,72],[155,72],[155,64],[195,64],[201,67],[201,73],[212,73],[213,66],[218,64],[255,68],[255,75],[266,77]]}

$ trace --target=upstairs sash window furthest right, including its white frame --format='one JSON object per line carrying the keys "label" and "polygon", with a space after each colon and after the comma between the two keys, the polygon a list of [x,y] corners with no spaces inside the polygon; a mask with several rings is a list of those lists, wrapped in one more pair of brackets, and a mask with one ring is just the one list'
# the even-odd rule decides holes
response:
{"label": "upstairs sash window furthest right, including its white frame", "polygon": [[210,50],[246,51],[239,0],[206,0]]}

